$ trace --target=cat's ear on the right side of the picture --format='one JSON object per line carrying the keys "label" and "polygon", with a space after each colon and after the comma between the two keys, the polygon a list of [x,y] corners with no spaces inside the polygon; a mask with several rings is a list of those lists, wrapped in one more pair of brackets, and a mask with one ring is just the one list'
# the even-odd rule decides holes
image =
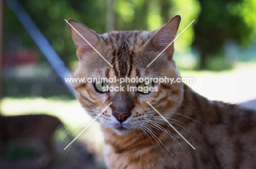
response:
{"label": "cat's ear on the right side of the picture", "polygon": [[[153,37],[150,38],[150,44],[157,51],[163,51],[176,37],[181,16],[176,15],[164,26],[152,32]],[[164,51],[168,56],[172,56],[174,52],[173,43]]]}

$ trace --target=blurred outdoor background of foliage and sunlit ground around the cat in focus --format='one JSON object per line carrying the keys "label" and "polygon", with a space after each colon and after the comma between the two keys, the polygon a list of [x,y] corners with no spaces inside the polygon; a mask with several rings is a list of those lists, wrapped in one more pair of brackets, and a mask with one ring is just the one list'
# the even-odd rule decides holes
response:
{"label": "blurred outdoor background of foliage and sunlit ground around the cat in focus", "polygon": [[[63,83],[78,63],[65,19],[101,34],[154,31],[174,15],[182,17],[178,33],[195,20],[174,43],[181,75],[195,79],[188,85],[209,99],[256,108],[256,0],[0,0],[2,116],[49,114],[76,136],[91,119]],[[56,132],[57,158],[46,168],[104,168],[97,123],[63,151],[65,135]],[[9,147],[0,168],[31,166],[33,155]]]}

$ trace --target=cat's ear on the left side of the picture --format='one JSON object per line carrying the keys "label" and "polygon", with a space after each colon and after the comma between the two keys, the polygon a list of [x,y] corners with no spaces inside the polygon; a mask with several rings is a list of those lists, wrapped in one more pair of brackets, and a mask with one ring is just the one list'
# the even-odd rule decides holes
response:
{"label": "cat's ear on the left side of the picture", "polygon": [[[91,47],[96,47],[100,42],[100,37],[98,34],[77,20],[69,19],[67,20],[70,23],[70,26],[67,23],[69,31],[71,32],[72,39],[77,47],[77,55],[79,59],[82,59],[87,53],[93,52],[94,49]],[[75,31],[76,30],[76,31]],[[81,37],[81,35],[83,37]],[[91,44],[89,45],[86,40]]]}

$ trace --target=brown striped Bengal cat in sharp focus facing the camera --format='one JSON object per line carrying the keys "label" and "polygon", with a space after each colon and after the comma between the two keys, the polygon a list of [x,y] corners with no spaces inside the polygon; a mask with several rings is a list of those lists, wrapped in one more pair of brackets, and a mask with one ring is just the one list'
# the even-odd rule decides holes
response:
{"label": "brown striped Bengal cat in sharp focus facing the camera", "polygon": [[[169,46],[180,16],[154,32],[113,31],[97,34],[69,19],[79,64],[73,77],[180,77]],[[73,29],[75,28],[91,46]],[[211,33],[211,32],[210,32]],[[221,82],[220,82],[221,83]],[[126,86],[158,87],[130,92]],[[103,90],[116,82],[74,83],[77,99],[102,126],[104,161],[108,168],[256,168],[256,113],[207,100],[183,83],[125,82],[124,91]],[[212,89],[218,92],[218,89]],[[241,89],[242,90],[242,89]],[[220,93],[221,94],[221,93]],[[184,138],[193,149],[149,102]]]}

